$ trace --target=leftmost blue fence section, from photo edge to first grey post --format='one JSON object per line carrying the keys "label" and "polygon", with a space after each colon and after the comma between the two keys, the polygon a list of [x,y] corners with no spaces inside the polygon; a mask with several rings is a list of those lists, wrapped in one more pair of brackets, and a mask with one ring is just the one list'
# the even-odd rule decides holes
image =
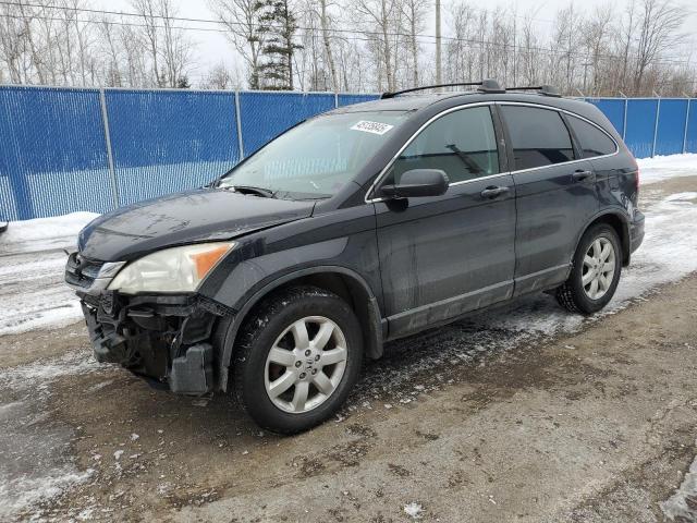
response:
{"label": "leftmost blue fence section, from photo edge to first grey post", "polygon": [[0,88],[0,220],[111,208],[99,92]]}

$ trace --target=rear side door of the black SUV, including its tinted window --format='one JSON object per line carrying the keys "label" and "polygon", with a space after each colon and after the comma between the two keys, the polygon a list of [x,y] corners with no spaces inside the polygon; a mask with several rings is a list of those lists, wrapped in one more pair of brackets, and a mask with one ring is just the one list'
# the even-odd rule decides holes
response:
{"label": "rear side door of the black SUV, including its tinted window", "polygon": [[562,112],[504,104],[516,186],[515,294],[563,282],[582,229],[598,211],[596,173],[575,150]]}

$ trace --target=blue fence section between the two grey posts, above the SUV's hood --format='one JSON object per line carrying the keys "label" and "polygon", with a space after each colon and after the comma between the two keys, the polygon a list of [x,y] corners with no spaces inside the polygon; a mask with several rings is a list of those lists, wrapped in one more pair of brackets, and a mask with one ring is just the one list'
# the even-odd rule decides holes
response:
{"label": "blue fence section between the two grey posts, above the SUV's hood", "polygon": [[240,161],[234,96],[107,90],[119,204],[200,186]]}

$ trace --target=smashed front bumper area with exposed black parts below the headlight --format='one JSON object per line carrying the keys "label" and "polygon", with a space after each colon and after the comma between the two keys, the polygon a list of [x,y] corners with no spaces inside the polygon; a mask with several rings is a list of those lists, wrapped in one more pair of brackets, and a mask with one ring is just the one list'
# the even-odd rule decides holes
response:
{"label": "smashed front bumper area with exposed black parts below the headlight", "polygon": [[82,307],[95,357],[118,363],[151,385],[176,393],[218,388],[212,329],[220,305],[196,294],[130,296],[83,294]]}

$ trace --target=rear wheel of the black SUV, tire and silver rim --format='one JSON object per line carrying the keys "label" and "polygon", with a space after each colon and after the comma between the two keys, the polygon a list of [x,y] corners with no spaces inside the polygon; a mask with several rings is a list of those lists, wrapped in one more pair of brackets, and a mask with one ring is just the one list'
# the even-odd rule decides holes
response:
{"label": "rear wheel of the black SUV, tire and silver rim", "polygon": [[[610,247],[606,254],[606,248]],[[612,227],[598,223],[589,228],[578,242],[571,275],[557,289],[557,301],[573,313],[597,313],[612,300],[621,273],[620,238]],[[595,287],[594,280],[597,282]]]}

